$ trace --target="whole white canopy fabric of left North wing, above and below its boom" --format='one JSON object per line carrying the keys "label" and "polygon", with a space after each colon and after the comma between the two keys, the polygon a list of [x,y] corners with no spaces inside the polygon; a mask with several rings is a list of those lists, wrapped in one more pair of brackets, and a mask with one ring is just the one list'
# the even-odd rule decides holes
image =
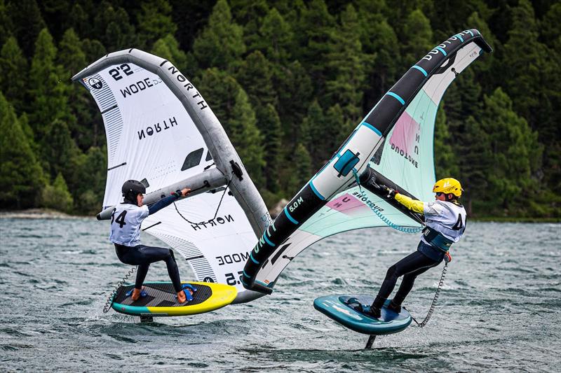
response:
{"label": "whole white canopy fabric of left North wing, above and below its boom", "polygon": [[[215,169],[194,120],[155,73],[130,62],[117,63],[81,82],[99,106],[107,134],[104,208],[122,202],[126,180],[142,181],[150,193]],[[227,283],[240,294],[252,293],[238,277],[257,237],[236,198],[223,190],[182,199],[176,202],[179,213],[168,206],[146,218],[142,229],[180,253],[197,281]]]}

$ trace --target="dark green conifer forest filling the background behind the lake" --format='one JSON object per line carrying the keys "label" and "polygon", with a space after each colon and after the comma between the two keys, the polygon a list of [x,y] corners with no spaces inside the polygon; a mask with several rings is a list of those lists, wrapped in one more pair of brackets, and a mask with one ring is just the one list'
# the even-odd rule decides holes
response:
{"label": "dark green conifer forest filling the background behind the lake", "polygon": [[444,96],[437,177],[462,182],[471,216],[559,219],[560,20],[555,0],[0,0],[1,209],[100,210],[103,122],[70,78],[107,52],[173,62],[271,206],[428,50],[476,28],[494,52]]}

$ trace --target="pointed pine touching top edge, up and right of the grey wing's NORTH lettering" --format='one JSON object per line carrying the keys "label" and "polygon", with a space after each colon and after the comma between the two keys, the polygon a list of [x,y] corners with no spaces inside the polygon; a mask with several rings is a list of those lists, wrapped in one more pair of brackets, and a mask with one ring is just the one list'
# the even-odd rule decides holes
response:
{"label": "pointed pine touching top edge, up and right of the grey wing's NORTH lettering", "polygon": [[243,28],[232,20],[226,0],[218,0],[208,17],[208,26],[195,39],[193,52],[199,66],[215,66],[224,71],[245,52]]}

